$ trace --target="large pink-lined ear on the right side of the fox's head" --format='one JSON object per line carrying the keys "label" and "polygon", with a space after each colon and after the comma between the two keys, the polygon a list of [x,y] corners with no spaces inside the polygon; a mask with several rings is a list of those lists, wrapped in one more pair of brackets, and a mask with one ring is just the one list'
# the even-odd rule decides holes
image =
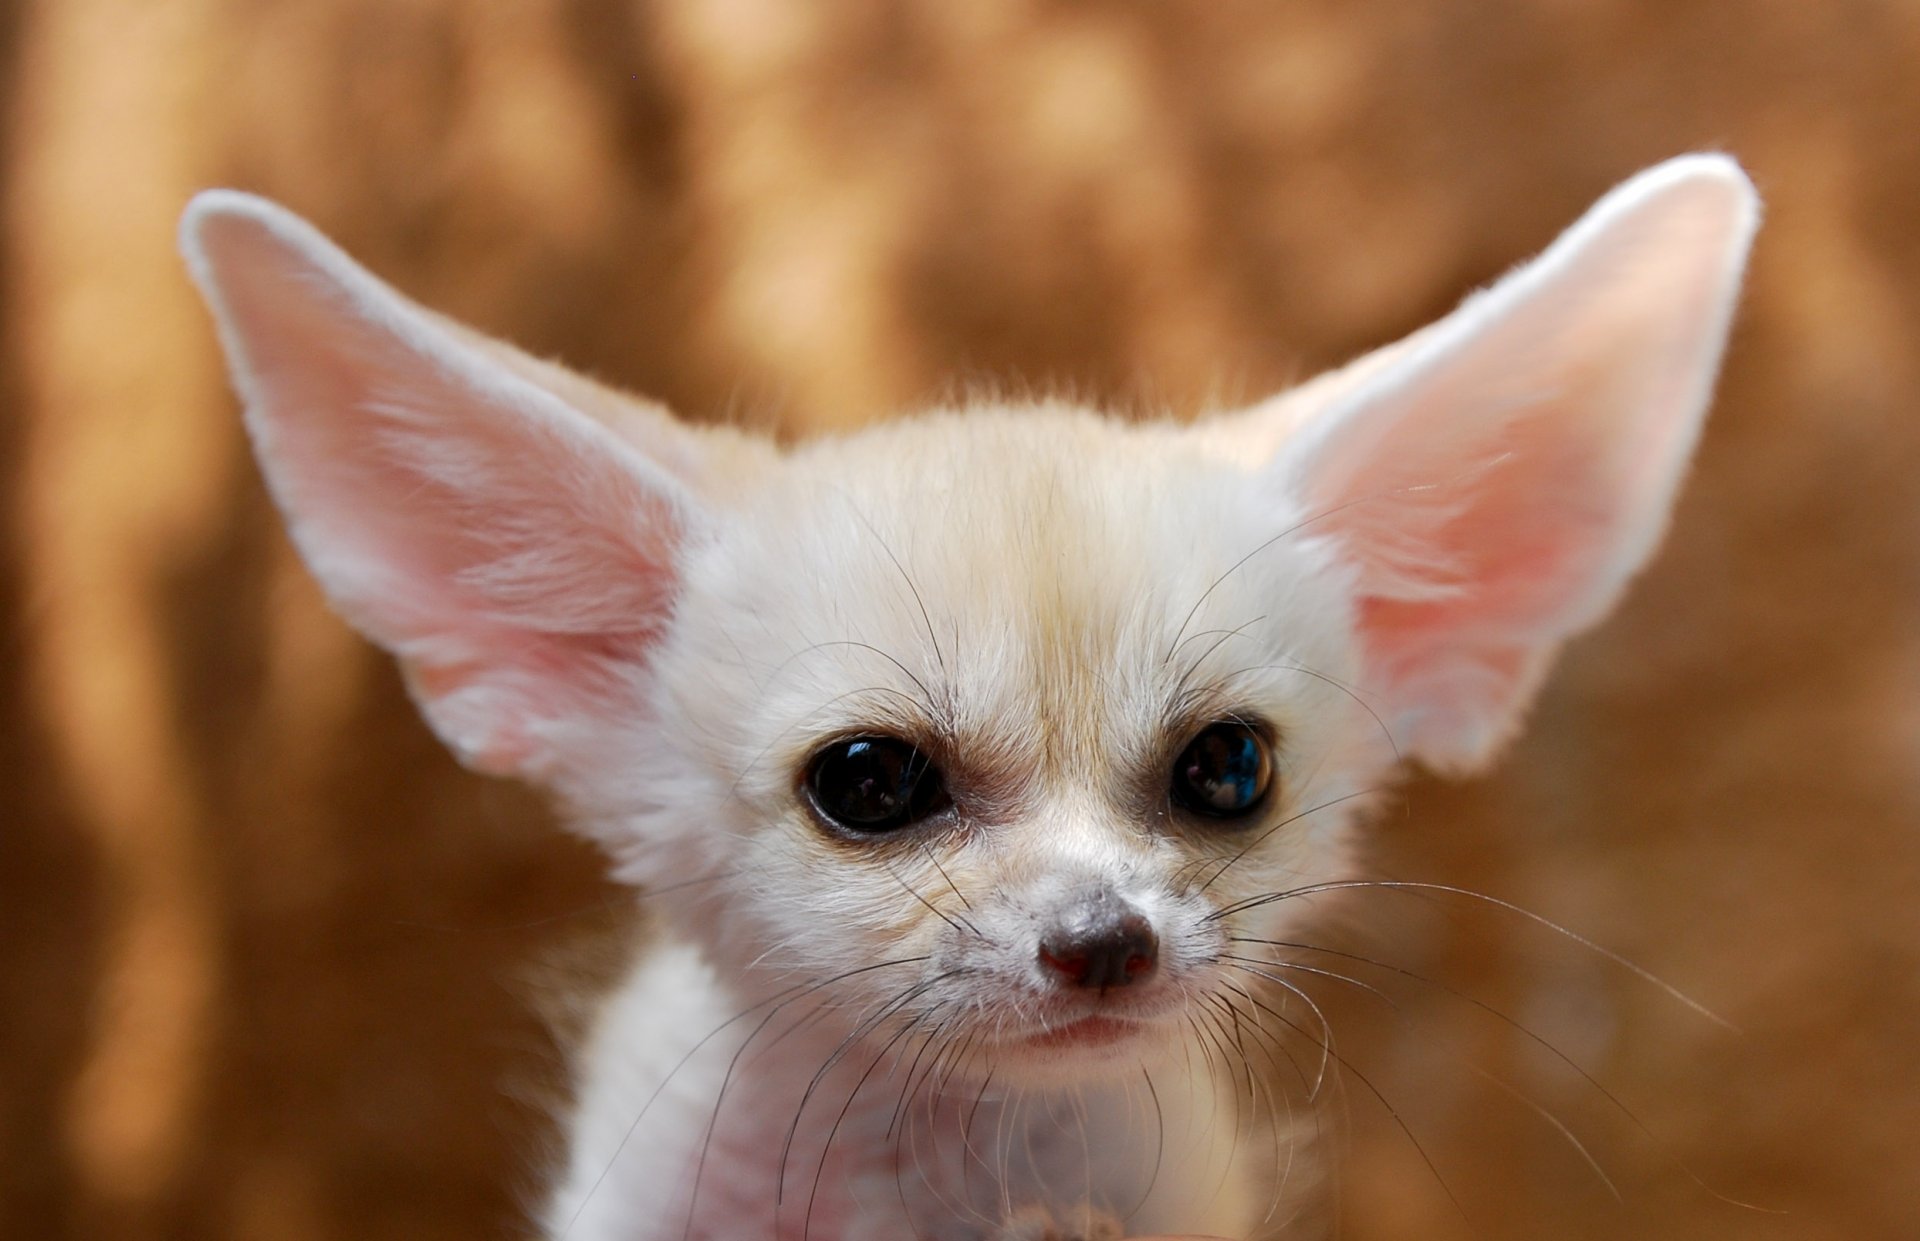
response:
{"label": "large pink-lined ear on the right side of the fox's head", "polygon": [[1292,415],[1271,469],[1356,571],[1365,686],[1409,755],[1488,761],[1653,551],[1757,223],[1732,159],[1663,163]]}

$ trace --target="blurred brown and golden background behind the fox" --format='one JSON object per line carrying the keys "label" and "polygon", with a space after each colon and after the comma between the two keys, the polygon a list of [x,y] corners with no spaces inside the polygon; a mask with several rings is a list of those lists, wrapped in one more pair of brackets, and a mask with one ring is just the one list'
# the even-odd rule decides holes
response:
{"label": "blurred brown and golden background behind the fox", "polygon": [[1373,951],[1638,1122],[1373,974],[1400,1009],[1346,997],[1344,1051],[1448,1189],[1352,1083],[1344,1235],[1920,1237],[1916,65],[1910,2],[0,6],[0,1235],[516,1235],[536,1001],[624,922],[292,563],[173,256],[194,188],[691,417],[820,428],[1256,396],[1720,148],[1768,223],[1672,540],[1379,864],[1740,1034],[1373,899]]}

